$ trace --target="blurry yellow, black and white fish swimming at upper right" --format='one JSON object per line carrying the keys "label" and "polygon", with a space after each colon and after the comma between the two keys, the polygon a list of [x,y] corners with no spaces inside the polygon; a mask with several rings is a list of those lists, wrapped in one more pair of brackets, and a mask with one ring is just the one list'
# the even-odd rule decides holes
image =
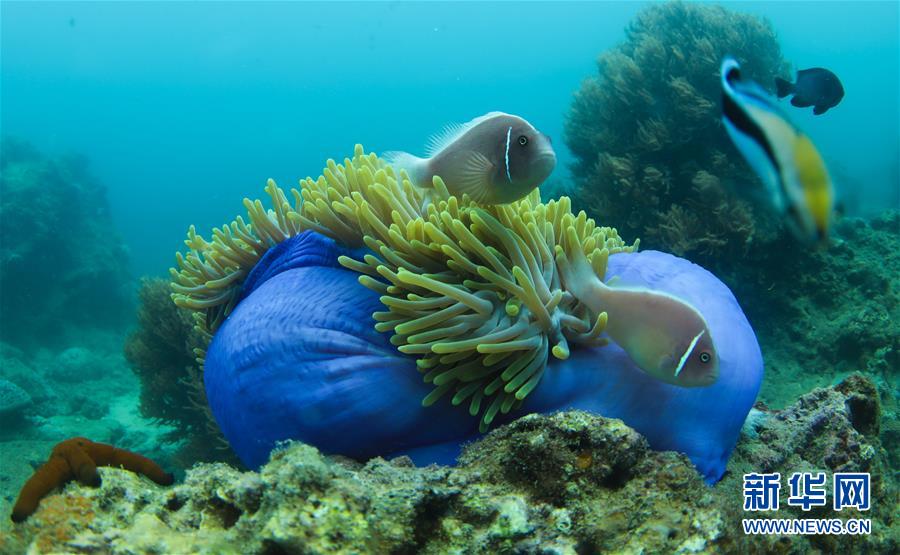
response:
{"label": "blurry yellow, black and white fish swimming at upper right", "polygon": [[775,208],[803,240],[823,241],[834,211],[834,188],[812,141],[737,61],[722,62],[722,122],[734,145],[765,183]]}

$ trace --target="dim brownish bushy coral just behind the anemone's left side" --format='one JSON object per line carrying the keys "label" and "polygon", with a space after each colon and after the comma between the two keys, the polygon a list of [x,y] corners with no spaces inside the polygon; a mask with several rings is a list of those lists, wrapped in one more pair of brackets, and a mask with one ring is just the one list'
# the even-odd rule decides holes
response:
{"label": "dim brownish bushy coral just behind the anemone's left side", "polygon": [[184,443],[175,458],[187,467],[199,461],[227,460],[221,433],[209,412],[195,349],[206,338],[192,313],[172,302],[169,282],[141,281],[137,328],[125,342],[125,358],[141,382],[141,414],[173,426],[171,439]]}

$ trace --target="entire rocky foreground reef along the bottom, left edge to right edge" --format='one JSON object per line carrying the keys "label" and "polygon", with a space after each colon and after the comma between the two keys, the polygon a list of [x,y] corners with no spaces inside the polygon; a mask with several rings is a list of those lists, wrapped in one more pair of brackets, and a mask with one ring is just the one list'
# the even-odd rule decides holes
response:
{"label": "entire rocky foreground reef along the bottom, left edge to right edge", "polygon": [[873,484],[868,536],[748,536],[740,525],[745,469],[888,472],[872,435],[878,414],[874,387],[860,376],[766,412],[715,488],[683,456],[652,451],[621,421],[582,412],[498,428],[456,468],[416,468],[405,458],[361,465],[294,443],[258,473],[199,464],[169,489],[100,469],[101,488],[72,483],[26,522],[0,524],[9,527],[0,549],[891,553],[900,526],[886,480]]}

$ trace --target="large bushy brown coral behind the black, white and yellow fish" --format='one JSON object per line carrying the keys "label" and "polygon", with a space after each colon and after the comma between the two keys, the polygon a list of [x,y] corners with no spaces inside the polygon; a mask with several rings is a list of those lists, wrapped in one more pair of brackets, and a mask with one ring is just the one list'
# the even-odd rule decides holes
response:
{"label": "large bushy brown coral behind the black, white and yellow fish", "polygon": [[578,204],[645,246],[711,268],[772,242],[779,229],[742,194],[762,186],[720,124],[725,55],[760,83],[786,70],[764,20],[713,5],[651,5],[600,55],[565,128]]}

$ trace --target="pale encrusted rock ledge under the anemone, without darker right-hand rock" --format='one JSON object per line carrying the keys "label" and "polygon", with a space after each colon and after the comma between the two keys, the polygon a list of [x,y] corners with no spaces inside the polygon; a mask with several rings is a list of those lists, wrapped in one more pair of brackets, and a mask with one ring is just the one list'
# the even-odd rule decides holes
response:
{"label": "pale encrusted rock ledge under the anemone, without darker right-hand rock", "polygon": [[[259,473],[198,464],[168,489],[101,472],[101,489],[71,484],[45,500],[50,509],[77,502],[89,523],[48,528],[42,503],[14,541],[112,553],[575,553],[641,542],[675,550],[721,533],[720,511],[685,457],[581,412],[520,419],[469,446],[455,468],[359,464],[293,443]],[[695,526],[699,513],[682,505],[709,518]]]}

